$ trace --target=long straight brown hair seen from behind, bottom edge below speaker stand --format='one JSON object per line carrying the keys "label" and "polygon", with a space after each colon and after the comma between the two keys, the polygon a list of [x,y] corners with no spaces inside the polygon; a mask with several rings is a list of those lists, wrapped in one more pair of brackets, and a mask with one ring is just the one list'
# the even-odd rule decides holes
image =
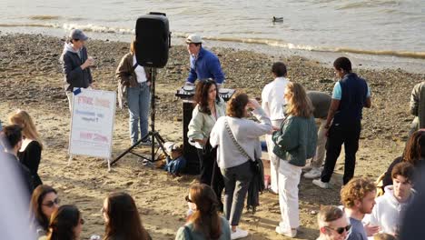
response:
{"label": "long straight brown hair seen from behind, bottom edge below speaker stand", "polygon": [[104,240],[152,240],[142,225],[133,197],[116,192],[104,199]]}

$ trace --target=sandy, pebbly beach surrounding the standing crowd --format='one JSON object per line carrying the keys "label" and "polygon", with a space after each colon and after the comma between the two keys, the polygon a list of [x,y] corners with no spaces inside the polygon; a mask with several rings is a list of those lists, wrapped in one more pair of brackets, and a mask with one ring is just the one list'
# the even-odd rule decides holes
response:
{"label": "sandy, pebbly beach surrounding the standing crowd", "polygon": [[[17,108],[25,109],[35,119],[44,139],[45,148],[39,175],[44,184],[59,191],[62,204],[74,204],[82,210],[86,224],[82,239],[103,235],[104,220],[100,208],[104,197],[113,191],[133,195],[143,219],[143,225],[153,239],[174,239],[178,227],[184,224],[187,205],[184,196],[194,176],[173,178],[163,170],[142,165],[133,155],[107,171],[102,159],[75,156],[67,165],[67,145],[70,114],[63,88],[59,56],[64,39],[45,35],[0,35],[0,119]],[[208,45],[206,45],[208,48]],[[128,43],[92,40],[87,44],[94,56],[94,87],[116,90],[114,71],[121,57],[129,51]],[[182,141],[183,124],[181,100],[175,91],[185,81],[189,56],[183,45],[173,46],[168,64],[159,69],[156,89],[156,128],[166,141]],[[283,61],[288,65],[288,77],[308,90],[331,93],[333,70],[301,56],[276,57],[251,51],[214,47],[219,55],[228,88],[237,88],[251,96],[261,96],[262,87],[272,81],[271,65]],[[390,162],[401,155],[410,128],[410,92],[413,85],[425,81],[424,74],[408,73],[400,69],[361,69],[354,63],[354,72],[368,80],[371,86],[372,108],[363,111],[361,146],[357,154],[355,175],[375,179]],[[127,109],[117,108],[114,122],[113,155],[130,146]],[[139,148],[141,152],[148,149]],[[343,156],[343,155],[342,155]],[[316,215],[321,205],[338,205],[341,188],[340,158],[333,175],[331,189],[323,190],[301,178],[301,229],[298,239],[318,236]],[[280,220],[278,196],[261,195],[261,206],[255,215],[242,215],[242,227],[251,235],[245,239],[285,239],[274,232]]]}

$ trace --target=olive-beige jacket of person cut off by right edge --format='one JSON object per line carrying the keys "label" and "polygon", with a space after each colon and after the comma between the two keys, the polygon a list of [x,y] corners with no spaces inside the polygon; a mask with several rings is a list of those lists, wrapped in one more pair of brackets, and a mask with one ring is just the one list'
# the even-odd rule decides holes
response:
{"label": "olive-beige jacket of person cut off by right edge", "polygon": [[411,91],[410,113],[418,116],[419,128],[425,128],[425,82],[415,85]]}

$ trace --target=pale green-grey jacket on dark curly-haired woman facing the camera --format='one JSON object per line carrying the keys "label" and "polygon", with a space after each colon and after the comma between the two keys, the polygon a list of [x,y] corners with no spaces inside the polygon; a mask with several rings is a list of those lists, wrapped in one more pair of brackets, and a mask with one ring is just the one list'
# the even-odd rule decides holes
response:
{"label": "pale green-grey jacket on dark curly-haired woman facing the camera", "polygon": [[[217,118],[226,115],[226,104],[222,98],[215,102],[215,113]],[[200,112],[199,105],[196,105],[193,108],[192,119],[188,125],[187,137],[189,138],[190,143],[192,143],[194,139],[202,140],[204,138],[208,138],[215,122],[216,120],[213,115],[207,115]],[[196,148],[203,149],[203,145],[198,142],[194,142],[194,145]]]}

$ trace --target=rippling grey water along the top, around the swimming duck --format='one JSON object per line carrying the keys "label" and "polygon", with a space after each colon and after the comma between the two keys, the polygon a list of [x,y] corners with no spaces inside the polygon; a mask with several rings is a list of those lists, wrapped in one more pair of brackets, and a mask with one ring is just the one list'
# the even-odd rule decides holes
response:
{"label": "rippling grey water along the top, around the swimming duck", "polygon": [[[425,58],[423,0],[2,0],[0,27],[133,35],[135,20],[166,13],[174,36],[311,51]],[[72,4],[71,4],[72,3]],[[273,23],[272,17],[283,17]],[[90,35],[90,34],[88,34]]]}

